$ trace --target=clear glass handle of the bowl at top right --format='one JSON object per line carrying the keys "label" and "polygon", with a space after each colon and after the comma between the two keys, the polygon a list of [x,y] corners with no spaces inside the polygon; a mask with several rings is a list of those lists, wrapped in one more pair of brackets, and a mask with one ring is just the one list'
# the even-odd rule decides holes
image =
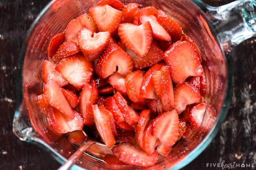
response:
{"label": "clear glass handle of the bowl at top right", "polygon": [[219,7],[192,1],[206,13],[225,51],[256,35],[256,0],[236,0]]}

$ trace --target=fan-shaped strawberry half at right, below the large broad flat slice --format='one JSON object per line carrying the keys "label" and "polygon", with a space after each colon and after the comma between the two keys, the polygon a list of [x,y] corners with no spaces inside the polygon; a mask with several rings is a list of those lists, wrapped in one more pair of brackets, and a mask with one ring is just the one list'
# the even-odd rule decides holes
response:
{"label": "fan-shaped strawberry half at right, below the large broad flat slice", "polygon": [[174,88],[174,108],[178,114],[186,109],[188,104],[200,103],[200,92],[186,82]]}

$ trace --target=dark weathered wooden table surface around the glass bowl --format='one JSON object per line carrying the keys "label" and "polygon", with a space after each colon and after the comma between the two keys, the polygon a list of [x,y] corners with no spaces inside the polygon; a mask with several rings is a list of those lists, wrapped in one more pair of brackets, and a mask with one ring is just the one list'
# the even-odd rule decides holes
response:
{"label": "dark weathered wooden table surface around the glass bowl", "polygon": [[[49,0],[0,0],[0,170],[54,170],[60,164],[47,152],[19,141],[12,133],[16,63],[30,24]],[[208,1],[218,5],[225,1]],[[236,48],[234,94],[221,130],[184,169],[206,169],[206,163],[256,164],[256,37]],[[246,169],[246,168],[242,168]]]}

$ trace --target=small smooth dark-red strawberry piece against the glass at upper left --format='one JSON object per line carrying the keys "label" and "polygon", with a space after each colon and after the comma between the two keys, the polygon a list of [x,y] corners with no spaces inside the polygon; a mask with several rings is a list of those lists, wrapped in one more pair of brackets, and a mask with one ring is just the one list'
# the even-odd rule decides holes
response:
{"label": "small smooth dark-red strawberry piece against the glass at upper left", "polygon": [[48,46],[48,57],[52,58],[55,52],[58,50],[60,45],[64,42],[65,36],[64,33],[58,33],[52,37]]}

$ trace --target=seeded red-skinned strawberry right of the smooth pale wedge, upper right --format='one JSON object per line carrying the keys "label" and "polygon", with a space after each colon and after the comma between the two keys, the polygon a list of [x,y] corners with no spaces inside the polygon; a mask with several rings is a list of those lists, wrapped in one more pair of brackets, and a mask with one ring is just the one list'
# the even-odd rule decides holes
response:
{"label": "seeded red-skinned strawberry right of the smooth pale wedge, upper right", "polygon": [[180,40],[180,37],[182,36],[182,29],[179,24],[166,15],[162,10],[157,10],[154,15],[157,17],[158,23],[160,23],[172,37],[173,42]]}

